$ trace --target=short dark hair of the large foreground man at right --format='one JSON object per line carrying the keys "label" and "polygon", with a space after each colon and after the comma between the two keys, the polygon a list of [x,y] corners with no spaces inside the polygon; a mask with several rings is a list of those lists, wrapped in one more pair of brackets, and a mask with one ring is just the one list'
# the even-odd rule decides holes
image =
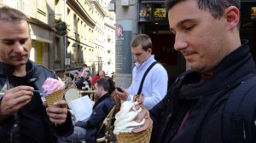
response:
{"label": "short dark hair of the large foreground man at right", "polygon": [[[185,2],[187,0],[166,0],[166,11],[172,9],[177,3]],[[224,9],[230,6],[236,6],[240,9],[240,0],[195,0],[198,8],[201,10],[209,10],[215,19],[219,19],[224,14]]]}

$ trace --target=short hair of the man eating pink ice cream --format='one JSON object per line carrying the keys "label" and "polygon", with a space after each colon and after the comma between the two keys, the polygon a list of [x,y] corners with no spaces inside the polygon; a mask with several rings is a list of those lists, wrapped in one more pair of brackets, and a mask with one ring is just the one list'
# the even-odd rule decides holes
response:
{"label": "short hair of the man eating pink ice cream", "polygon": [[0,8],[0,20],[20,22],[25,20],[28,24],[28,18],[26,14],[20,12],[20,10],[3,7]]}

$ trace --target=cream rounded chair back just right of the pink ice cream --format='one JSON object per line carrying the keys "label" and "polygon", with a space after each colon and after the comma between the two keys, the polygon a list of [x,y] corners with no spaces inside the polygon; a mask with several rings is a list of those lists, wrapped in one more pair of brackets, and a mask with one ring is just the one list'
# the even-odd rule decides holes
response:
{"label": "cream rounded chair back just right of the pink ice cream", "polygon": [[67,100],[67,106],[69,109],[71,109],[71,106],[69,105],[70,100],[76,100],[80,98],[80,92],[79,89],[67,89],[65,94],[64,94],[65,100]]}

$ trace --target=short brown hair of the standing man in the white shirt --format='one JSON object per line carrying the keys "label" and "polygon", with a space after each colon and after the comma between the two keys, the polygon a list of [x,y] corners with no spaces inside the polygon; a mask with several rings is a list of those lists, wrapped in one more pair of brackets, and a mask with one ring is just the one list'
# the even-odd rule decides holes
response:
{"label": "short brown hair of the standing man in the white shirt", "polygon": [[132,39],[131,48],[137,47],[138,45],[142,45],[145,51],[147,51],[148,49],[153,49],[152,41],[150,37],[148,37],[148,35],[146,34],[139,34]]}

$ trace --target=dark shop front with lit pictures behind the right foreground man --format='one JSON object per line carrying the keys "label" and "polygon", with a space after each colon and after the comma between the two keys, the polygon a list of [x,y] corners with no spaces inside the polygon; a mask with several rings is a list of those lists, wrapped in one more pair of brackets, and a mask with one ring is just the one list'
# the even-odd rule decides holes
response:
{"label": "dark shop front with lit pictures behind the right foreground man", "polygon": [[[174,35],[170,32],[167,12],[163,1],[141,1],[138,6],[138,25],[142,33],[148,34],[153,42],[153,54],[175,79],[188,70],[183,55],[173,49]],[[248,39],[256,60],[256,1],[241,0],[241,39]]]}

